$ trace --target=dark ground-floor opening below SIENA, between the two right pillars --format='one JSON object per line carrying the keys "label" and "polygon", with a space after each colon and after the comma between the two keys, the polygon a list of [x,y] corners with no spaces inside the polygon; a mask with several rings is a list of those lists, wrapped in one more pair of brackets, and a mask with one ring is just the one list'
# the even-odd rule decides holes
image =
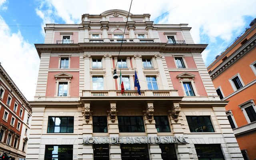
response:
{"label": "dark ground-floor opening below SIENA, between the two right pillars", "polygon": [[174,144],[160,144],[163,160],[177,160]]}

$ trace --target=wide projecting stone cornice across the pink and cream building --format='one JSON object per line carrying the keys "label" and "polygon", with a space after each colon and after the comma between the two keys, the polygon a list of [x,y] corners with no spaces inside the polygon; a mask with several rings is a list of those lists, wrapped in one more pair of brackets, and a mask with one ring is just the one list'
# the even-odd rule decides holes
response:
{"label": "wide projecting stone cornice across the pink and cream building", "polygon": [[[120,43],[35,44],[42,52],[119,51]],[[122,51],[202,52],[207,44],[124,43]]]}

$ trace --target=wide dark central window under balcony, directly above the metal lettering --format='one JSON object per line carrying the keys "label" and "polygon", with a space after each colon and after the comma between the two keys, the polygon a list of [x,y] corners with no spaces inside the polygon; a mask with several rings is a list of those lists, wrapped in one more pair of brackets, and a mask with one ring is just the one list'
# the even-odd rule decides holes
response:
{"label": "wide dark central window under balcony, directly above the metal lettering", "polygon": [[119,132],[145,132],[142,117],[118,117]]}

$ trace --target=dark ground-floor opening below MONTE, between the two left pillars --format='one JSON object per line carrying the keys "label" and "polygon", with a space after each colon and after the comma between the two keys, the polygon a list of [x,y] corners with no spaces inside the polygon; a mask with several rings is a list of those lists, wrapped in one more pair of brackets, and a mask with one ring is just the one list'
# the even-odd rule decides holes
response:
{"label": "dark ground-floor opening below MONTE, between the two left pillars", "polygon": [[109,160],[108,144],[93,144],[93,159],[94,160]]}

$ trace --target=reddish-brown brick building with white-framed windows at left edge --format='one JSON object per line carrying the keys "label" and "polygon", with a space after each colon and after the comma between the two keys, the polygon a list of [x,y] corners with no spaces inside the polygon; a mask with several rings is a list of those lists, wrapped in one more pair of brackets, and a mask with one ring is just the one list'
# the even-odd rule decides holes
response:
{"label": "reddish-brown brick building with white-framed windows at left edge", "polygon": [[32,108],[0,64],[0,154],[26,157]]}

